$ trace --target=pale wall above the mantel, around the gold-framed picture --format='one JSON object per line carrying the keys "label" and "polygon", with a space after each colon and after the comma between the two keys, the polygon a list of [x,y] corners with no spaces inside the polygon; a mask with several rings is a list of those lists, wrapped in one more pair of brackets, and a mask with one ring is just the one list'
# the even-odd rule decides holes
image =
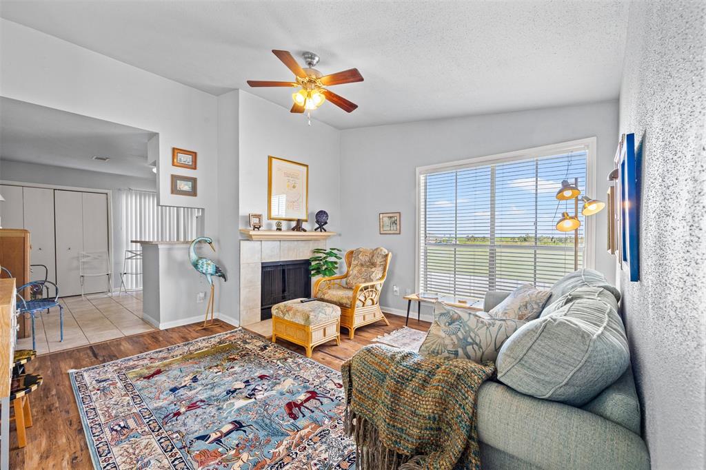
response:
{"label": "pale wall above the mantel, around the gold-framed picture", "polygon": [[[248,214],[254,212],[263,215],[266,229],[275,228],[274,221],[266,220],[268,155],[273,155],[309,165],[309,222],[304,227],[313,230],[313,215],[323,209],[330,216],[326,229],[340,231],[340,131],[313,120],[307,126],[303,115],[242,90],[239,129],[240,226],[247,227]],[[284,229],[293,225],[284,222]]]}

